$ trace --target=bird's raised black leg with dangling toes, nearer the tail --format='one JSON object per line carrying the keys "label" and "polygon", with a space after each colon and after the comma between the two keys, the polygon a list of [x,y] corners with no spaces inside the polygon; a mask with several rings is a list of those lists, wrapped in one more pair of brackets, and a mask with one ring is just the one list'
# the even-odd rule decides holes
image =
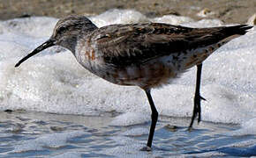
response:
{"label": "bird's raised black leg with dangling toes, nearer the tail", "polygon": [[201,99],[206,100],[204,97],[200,96],[200,80],[201,80],[201,72],[202,72],[202,63],[200,65],[197,65],[197,83],[196,83],[196,91],[195,91],[195,97],[194,97],[194,109],[192,114],[192,120],[189,126],[189,130],[192,129],[193,121],[198,116],[198,123],[200,123],[201,120]]}

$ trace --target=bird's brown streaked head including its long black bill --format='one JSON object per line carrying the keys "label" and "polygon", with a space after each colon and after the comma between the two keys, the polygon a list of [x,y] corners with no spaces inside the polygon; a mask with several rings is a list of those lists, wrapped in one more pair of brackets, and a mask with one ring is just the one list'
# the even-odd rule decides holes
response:
{"label": "bird's brown streaked head including its long black bill", "polygon": [[65,47],[74,54],[79,35],[81,33],[86,34],[87,32],[92,32],[96,28],[97,26],[84,16],[69,16],[67,18],[61,18],[56,23],[51,37],[42,43],[41,46],[35,48],[30,54],[27,54],[15,65],[15,67],[19,67],[22,62],[26,61],[34,54],[38,54],[42,50],[56,45]]}

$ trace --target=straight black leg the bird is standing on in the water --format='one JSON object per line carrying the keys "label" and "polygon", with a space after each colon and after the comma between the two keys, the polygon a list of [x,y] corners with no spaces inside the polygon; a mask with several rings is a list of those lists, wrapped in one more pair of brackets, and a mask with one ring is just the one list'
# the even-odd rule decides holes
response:
{"label": "straight black leg the bird is standing on in the water", "polygon": [[151,126],[150,126],[150,132],[149,132],[149,135],[148,135],[147,147],[143,147],[141,150],[150,151],[151,146],[152,146],[152,140],[153,140],[153,137],[154,137],[154,128],[155,128],[157,118],[158,118],[158,112],[157,112],[157,110],[154,106],[154,101],[151,97],[150,90],[145,90],[145,92],[147,94],[147,99],[148,99],[148,102],[150,104],[151,111],[152,111],[152,114],[151,114],[152,122],[151,122]]}

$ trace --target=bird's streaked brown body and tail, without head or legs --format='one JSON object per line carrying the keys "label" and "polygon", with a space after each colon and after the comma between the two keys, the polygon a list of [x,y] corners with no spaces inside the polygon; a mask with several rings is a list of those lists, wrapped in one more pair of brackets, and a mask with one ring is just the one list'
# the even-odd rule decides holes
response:
{"label": "bird's streaked brown body and tail, without head or legs", "polygon": [[200,64],[243,27],[108,25],[82,34],[75,55],[81,65],[111,83],[150,89]]}

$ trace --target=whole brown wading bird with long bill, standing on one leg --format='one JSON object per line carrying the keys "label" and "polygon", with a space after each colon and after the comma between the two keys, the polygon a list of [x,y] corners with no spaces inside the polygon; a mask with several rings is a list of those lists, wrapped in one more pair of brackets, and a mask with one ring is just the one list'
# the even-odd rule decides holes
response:
{"label": "whole brown wading bird with long bill, standing on one leg", "polygon": [[145,90],[152,110],[147,147],[150,150],[158,112],[150,90],[170,83],[188,68],[197,65],[194,118],[200,122],[200,74],[202,62],[231,39],[252,28],[248,25],[189,28],[160,23],[108,25],[97,28],[88,18],[60,19],[48,41],[20,60],[15,67],[41,50],[59,45],[72,51],[90,72],[110,83],[135,85]]}

